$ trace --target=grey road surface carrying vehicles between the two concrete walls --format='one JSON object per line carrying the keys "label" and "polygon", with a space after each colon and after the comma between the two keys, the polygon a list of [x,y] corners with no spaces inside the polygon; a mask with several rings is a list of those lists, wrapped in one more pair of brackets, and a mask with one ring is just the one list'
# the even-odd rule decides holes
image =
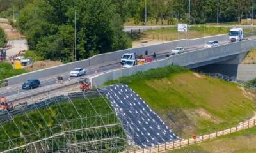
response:
{"label": "grey road surface carrying vehicles between the two concrete walls", "polygon": [[[255,37],[253,38],[250,38],[250,39],[255,39]],[[225,45],[229,43],[228,41],[220,41],[219,44],[220,45]],[[191,51],[195,51],[195,50],[200,50],[204,48],[204,44],[198,46],[198,47],[184,47],[185,49],[185,53],[186,52],[191,52]],[[156,54],[157,57],[156,59],[159,60],[159,59],[164,59],[166,58],[166,55],[171,55],[171,50],[173,48],[170,48],[170,50],[168,52],[164,52],[162,54]],[[118,68],[120,69],[120,63],[115,63],[115,64],[111,64],[111,65],[108,65],[108,66],[102,66],[100,68],[92,68],[92,69],[86,69],[86,75],[85,76],[81,76],[81,77],[88,77],[90,75],[93,75],[95,74],[95,70],[97,70],[97,73],[103,73],[103,72],[106,72],[106,71],[110,71],[110,70],[114,70],[115,68]],[[72,69],[70,69],[71,71]],[[79,78],[80,77],[69,77],[69,73],[70,72],[67,72],[65,73],[64,75],[62,75],[61,77],[63,77],[63,82],[68,82],[68,78],[70,78],[70,80],[74,80],[76,79],[76,81],[78,82]],[[33,78],[31,78],[33,79]],[[35,89],[22,89],[21,88],[21,85],[12,85],[13,87],[3,87],[0,89],[0,96],[15,96],[15,97],[18,97],[18,93],[19,94],[28,94],[28,96],[33,96],[33,94],[35,94],[35,92],[38,92],[38,91],[47,91],[47,89],[51,89],[51,87],[53,85],[56,85],[56,80],[57,78],[54,77],[54,78],[49,78],[47,80],[40,80],[41,82],[41,86],[40,88],[35,88]],[[78,87],[78,84],[77,84],[77,87]]]}

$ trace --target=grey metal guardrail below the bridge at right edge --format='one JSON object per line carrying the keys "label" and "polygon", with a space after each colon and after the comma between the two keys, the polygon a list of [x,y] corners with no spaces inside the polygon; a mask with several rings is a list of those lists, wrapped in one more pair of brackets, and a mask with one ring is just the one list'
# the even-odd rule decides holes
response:
{"label": "grey metal guardrail below the bridge at right edge", "polygon": [[228,77],[227,75],[222,75],[220,73],[200,73],[202,75],[208,75],[209,77],[212,78],[219,78],[221,80],[227,81],[227,82],[233,82],[237,85],[240,85],[241,87],[246,87],[249,89],[256,90],[256,84],[252,84],[250,82],[244,82],[241,80],[237,80],[236,77]]}

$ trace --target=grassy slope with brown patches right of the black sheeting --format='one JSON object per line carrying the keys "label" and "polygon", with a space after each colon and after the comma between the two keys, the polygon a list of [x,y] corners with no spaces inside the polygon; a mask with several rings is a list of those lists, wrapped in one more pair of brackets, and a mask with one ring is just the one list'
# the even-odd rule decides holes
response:
{"label": "grassy slope with brown patches right of the black sheeting", "polygon": [[255,102],[236,84],[179,66],[150,69],[107,82],[129,85],[179,137],[226,128],[251,117]]}

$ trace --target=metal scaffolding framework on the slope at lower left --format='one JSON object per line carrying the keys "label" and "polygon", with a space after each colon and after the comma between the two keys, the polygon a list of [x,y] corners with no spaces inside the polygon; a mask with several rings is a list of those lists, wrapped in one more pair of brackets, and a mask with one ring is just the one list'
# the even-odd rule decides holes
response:
{"label": "metal scaffolding framework on the slope at lower left", "polygon": [[[103,98],[106,105],[111,108],[99,89],[93,91],[93,94],[95,93]],[[23,134],[24,131],[20,129],[20,124],[13,119],[12,112],[7,111],[5,117],[8,117],[8,120],[0,123],[0,129],[4,131],[0,135],[6,135],[8,139],[0,142],[0,152],[120,152],[124,150],[128,145],[127,136],[120,119],[116,117],[116,113],[101,114],[97,112],[88,97],[90,95],[84,92],[72,95],[65,94],[64,99],[67,99],[67,103],[74,107],[79,116],[75,119],[65,117],[60,104],[63,103],[63,97],[61,97],[62,102],[60,102],[60,96],[49,98],[51,103],[47,100],[42,100],[43,102],[45,101],[44,106],[41,105],[42,101],[40,106],[36,105],[36,103],[31,103],[33,106],[31,108],[33,109],[26,110],[21,106],[20,111],[22,113],[18,113],[18,115],[26,115],[24,122],[34,129],[34,131],[29,132],[29,135]],[[86,103],[89,103],[93,108],[93,113],[90,112],[90,115],[82,116],[81,109],[74,105],[74,99],[82,98],[86,99]],[[51,110],[50,105],[58,107],[58,113],[64,116],[64,120],[57,119],[57,114]],[[37,111],[44,120],[45,125],[49,125],[44,114],[42,114],[43,108],[48,108],[49,115],[54,117],[55,121],[51,126],[38,128],[35,121],[29,118],[28,112],[31,112],[31,110]],[[11,139],[10,133],[6,132],[4,128],[6,122],[13,122],[15,128],[19,130],[17,138]]]}

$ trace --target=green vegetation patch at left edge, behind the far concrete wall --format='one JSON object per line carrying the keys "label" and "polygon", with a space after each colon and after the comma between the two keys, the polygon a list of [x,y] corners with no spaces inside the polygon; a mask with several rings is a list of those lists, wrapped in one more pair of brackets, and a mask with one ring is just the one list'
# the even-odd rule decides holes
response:
{"label": "green vegetation patch at left edge, behind the far concrete wall", "polygon": [[0,62],[0,80],[10,78],[22,73],[26,73],[24,69],[14,69],[12,64],[7,62]]}

